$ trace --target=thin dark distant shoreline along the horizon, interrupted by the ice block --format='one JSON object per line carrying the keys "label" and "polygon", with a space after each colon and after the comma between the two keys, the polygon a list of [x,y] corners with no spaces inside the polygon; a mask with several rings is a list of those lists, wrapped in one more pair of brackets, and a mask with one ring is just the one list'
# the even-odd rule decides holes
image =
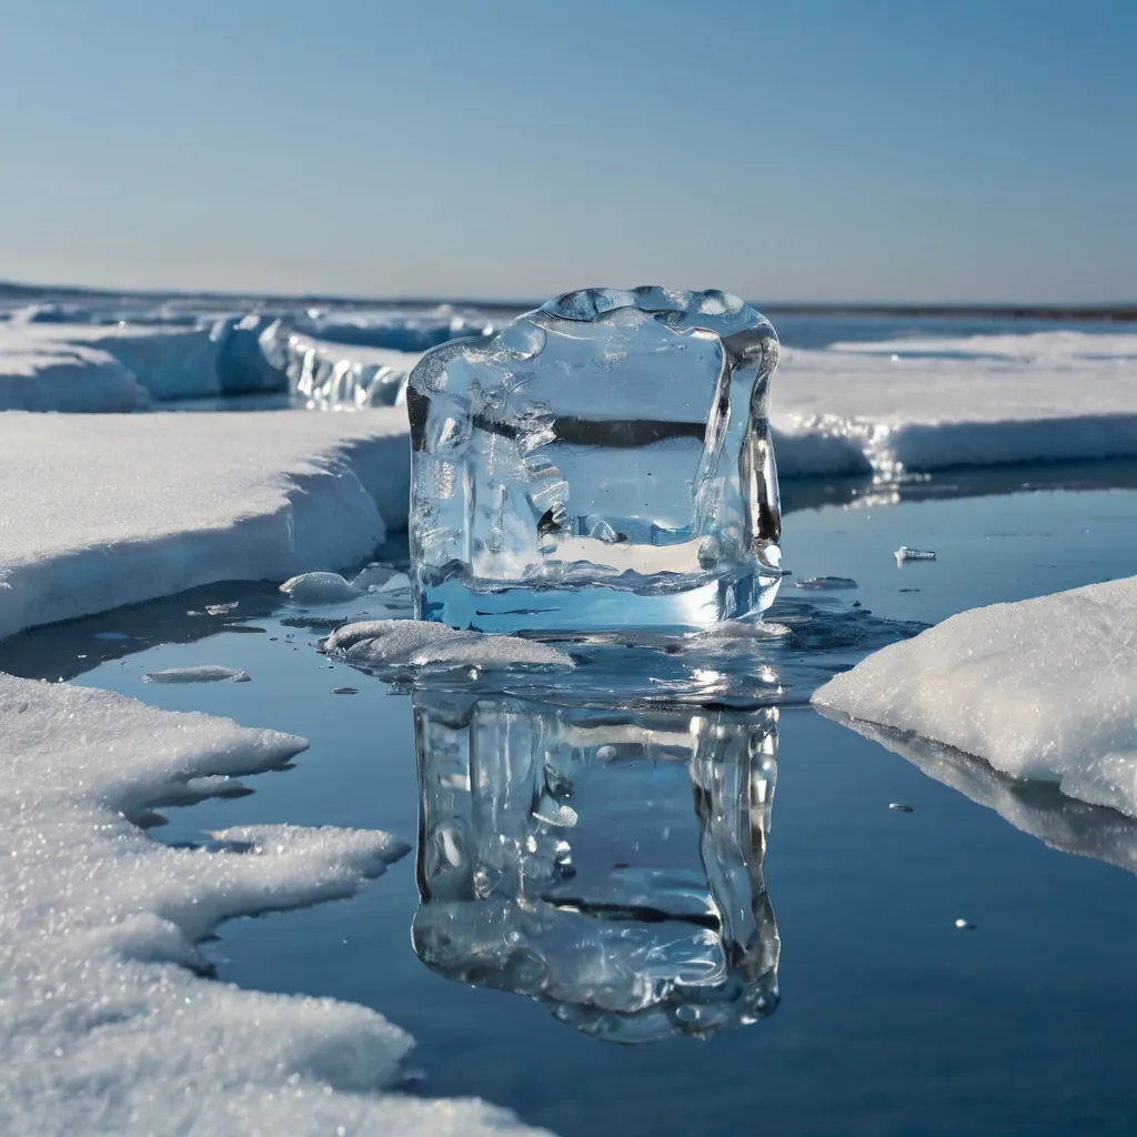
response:
{"label": "thin dark distant shoreline along the horizon, interrupted by the ice block", "polygon": [[[459,308],[476,308],[488,313],[520,313],[538,307],[539,300],[473,300],[455,297],[346,297],[323,294],[290,294],[264,292],[182,291],[179,289],[97,289],[69,284],[20,284],[0,281],[0,302],[26,300],[28,302],[52,300],[205,300],[221,305],[248,304],[301,304],[334,305],[337,307],[405,308],[451,305]],[[1039,319],[1071,323],[1137,323],[1137,302],[1132,304],[847,304],[840,301],[752,301],[764,313],[783,316],[862,316],[885,317],[915,316],[924,318],[955,319]]]}

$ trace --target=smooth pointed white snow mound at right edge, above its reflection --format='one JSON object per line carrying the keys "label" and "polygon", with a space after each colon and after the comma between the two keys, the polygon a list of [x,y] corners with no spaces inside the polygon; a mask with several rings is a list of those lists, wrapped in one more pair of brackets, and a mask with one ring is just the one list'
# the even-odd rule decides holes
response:
{"label": "smooth pointed white snow mound at right edge, above its reflection", "polygon": [[813,702],[1137,816],[1137,576],[962,612]]}

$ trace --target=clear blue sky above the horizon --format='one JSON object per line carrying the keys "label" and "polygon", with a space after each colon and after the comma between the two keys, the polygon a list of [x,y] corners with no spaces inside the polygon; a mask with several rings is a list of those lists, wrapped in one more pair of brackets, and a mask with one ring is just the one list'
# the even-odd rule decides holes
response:
{"label": "clear blue sky above the horizon", "polygon": [[1137,300],[1137,0],[0,0],[0,279]]}

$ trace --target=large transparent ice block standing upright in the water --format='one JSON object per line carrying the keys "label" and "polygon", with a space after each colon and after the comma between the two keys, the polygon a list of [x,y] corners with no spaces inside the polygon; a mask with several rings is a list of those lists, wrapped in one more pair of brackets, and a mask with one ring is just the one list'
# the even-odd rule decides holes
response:
{"label": "large transparent ice block standing upright in the water", "polygon": [[416,613],[700,628],[780,576],[770,324],[722,292],[590,289],[410,374]]}

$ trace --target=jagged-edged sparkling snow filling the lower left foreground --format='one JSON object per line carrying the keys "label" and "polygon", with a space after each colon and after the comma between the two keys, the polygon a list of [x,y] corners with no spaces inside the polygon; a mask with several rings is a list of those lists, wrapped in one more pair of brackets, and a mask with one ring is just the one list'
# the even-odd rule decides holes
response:
{"label": "jagged-edged sparkling snow filling the lower left foreground", "polygon": [[377,1093],[412,1039],[374,1011],[201,977],[222,920],[350,896],[408,852],[290,825],[171,848],[138,827],[302,739],[9,675],[0,721],[0,1130],[520,1131],[479,1102]]}

